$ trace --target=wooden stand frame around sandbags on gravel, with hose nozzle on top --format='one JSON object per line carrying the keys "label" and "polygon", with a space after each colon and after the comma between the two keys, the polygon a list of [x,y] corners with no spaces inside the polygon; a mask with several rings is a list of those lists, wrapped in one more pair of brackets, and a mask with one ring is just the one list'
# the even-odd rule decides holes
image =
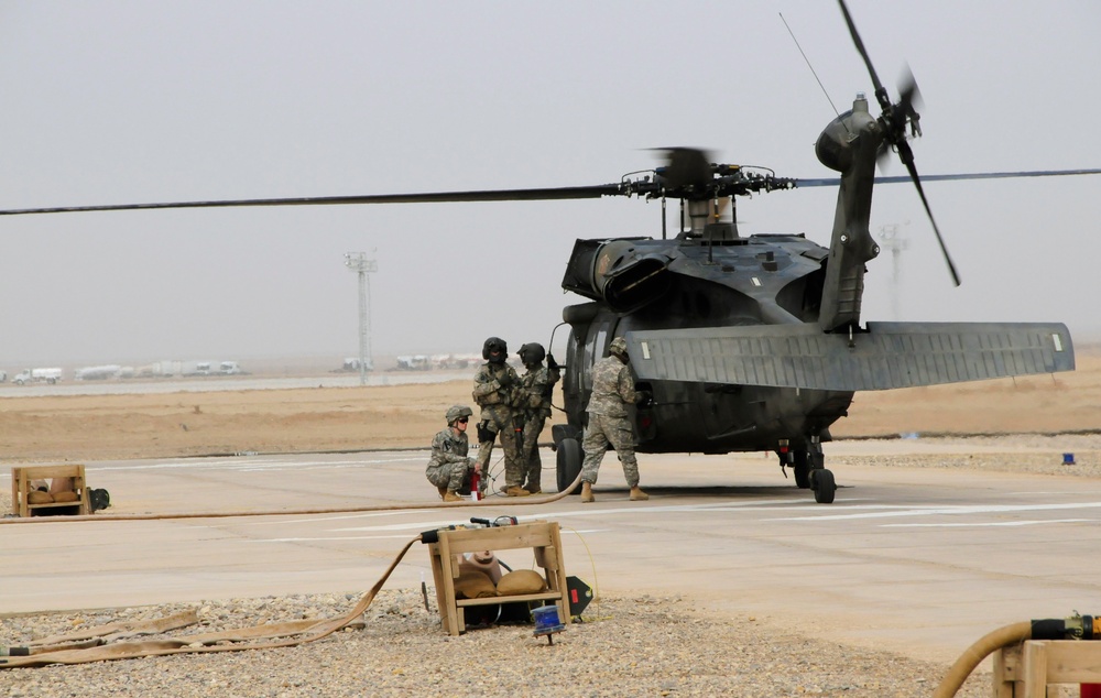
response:
{"label": "wooden stand frame around sandbags on gravel, with hose nozzle on top", "polygon": [[[522,596],[492,597],[488,599],[455,598],[455,580],[459,567],[455,559],[462,553],[478,550],[508,550],[534,548],[535,564],[543,568],[547,591]],[[466,631],[464,609],[470,606],[492,606],[516,601],[546,601],[558,607],[563,624],[569,623],[569,601],[566,590],[566,564],[562,556],[558,523],[536,521],[515,526],[490,528],[457,528],[440,531],[439,542],[428,544],[432,557],[432,576],[436,581],[436,603],[444,632],[458,635]]]}

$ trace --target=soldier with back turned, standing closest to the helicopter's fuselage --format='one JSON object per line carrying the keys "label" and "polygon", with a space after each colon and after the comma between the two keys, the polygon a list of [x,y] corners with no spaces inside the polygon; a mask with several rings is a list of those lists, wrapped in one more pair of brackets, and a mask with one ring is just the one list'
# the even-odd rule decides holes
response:
{"label": "soldier with back turned, standing closest to the helicopter's fuselage", "polygon": [[631,501],[647,500],[650,495],[639,488],[639,461],[634,457],[634,433],[626,418],[626,405],[647,399],[646,393],[634,390],[634,377],[628,367],[626,340],[617,337],[608,345],[610,356],[592,368],[592,395],[589,397],[589,424],[585,427],[581,448],[581,501],[592,502],[592,486],[597,482],[600,461],[608,444],[623,463],[623,477],[631,487]]}

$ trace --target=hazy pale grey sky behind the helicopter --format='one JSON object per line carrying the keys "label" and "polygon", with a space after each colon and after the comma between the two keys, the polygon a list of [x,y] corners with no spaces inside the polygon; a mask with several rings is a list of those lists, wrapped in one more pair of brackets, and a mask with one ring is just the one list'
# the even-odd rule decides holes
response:
{"label": "hazy pale grey sky behind the helicopter", "polygon": [[[1101,3],[849,4],[881,79],[925,98],[924,174],[1101,166]],[[0,2],[0,208],[602,184],[691,145],[830,176],[814,142],[870,79],[825,0]],[[897,163],[890,174],[904,174]],[[864,320],[1061,320],[1101,336],[1101,176],[876,189]],[[828,244],[836,192],[740,199],[743,232]],[[595,201],[0,219],[0,368],[377,355],[550,337],[576,238],[657,236]],[[555,343],[565,339],[564,330]]]}

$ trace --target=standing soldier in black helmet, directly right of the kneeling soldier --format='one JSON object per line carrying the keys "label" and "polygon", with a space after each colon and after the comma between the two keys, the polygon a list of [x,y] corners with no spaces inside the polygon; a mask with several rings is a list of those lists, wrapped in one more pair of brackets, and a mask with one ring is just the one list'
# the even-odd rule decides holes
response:
{"label": "standing soldier in black helmet, directly right of the kneeling soldier", "polygon": [[[486,359],[486,363],[475,374],[473,392],[475,402],[481,407],[481,422],[478,423],[478,462],[481,465],[481,471],[488,475],[493,441],[500,438],[501,448],[504,449],[504,493],[509,497],[527,497],[531,492],[521,487],[524,482],[524,471],[520,465],[517,425],[513,412],[520,378],[516,371],[505,363],[505,359],[509,358],[509,345],[500,337],[490,337],[482,346],[482,358]],[[519,428],[523,428],[523,424],[520,424]]]}

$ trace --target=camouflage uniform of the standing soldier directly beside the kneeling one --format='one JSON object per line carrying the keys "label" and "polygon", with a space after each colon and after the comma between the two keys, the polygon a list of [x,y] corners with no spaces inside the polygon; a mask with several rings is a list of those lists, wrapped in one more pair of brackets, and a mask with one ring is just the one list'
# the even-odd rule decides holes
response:
{"label": "camouflage uniform of the standing soldier directly beside the kneeling one", "polygon": [[[501,385],[501,377],[508,375],[508,385]],[[521,487],[524,483],[524,471],[520,465],[519,445],[516,444],[516,427],[513,423],[513,404],[516,401],[515,388],[520,384],[516,371],[508,363],[487,362],[475,374],[473,399],[481,407],[481,422],[478,424],[478,462],[481,463],[482,478],[489,476],[489,459],[493,454],[493,441],[501,440],[504,449],[504,487]],[[493,432],[495,438],[482,438],[482,430]]]}

